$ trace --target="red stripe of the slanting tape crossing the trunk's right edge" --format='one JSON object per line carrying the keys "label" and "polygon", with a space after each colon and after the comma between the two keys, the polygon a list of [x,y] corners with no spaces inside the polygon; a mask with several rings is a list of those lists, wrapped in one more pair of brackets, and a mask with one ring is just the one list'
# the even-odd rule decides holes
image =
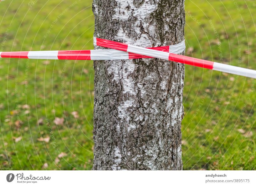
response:
{"label": "red stripe of the slanting tape crossing the trunk's right edge", "polygon": [[213,69],[213,63],[214,63],[212,61],[197,59],[197,58],[188,57],[188,56],[180,56],[172,53],[169,54],[169,60],[174,62],[189,64],[197,67],[203,67],[207,69]]}

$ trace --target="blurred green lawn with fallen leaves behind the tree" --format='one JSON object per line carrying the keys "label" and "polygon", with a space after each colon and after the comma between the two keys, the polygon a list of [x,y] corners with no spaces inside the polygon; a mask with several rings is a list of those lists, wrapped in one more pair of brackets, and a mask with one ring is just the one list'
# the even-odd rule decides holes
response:
{"label": "blurred green lawn with fallen leaves behind the tree", "polygon": [[[256,69],[255,1],[186,0],[186,55]],[[0,51],[93,49],[92,0],[0,2]],[[90,170],[93,62],[0,58],[0,169]],[[253,170],[256,81],[186,65],[184,170]]]}

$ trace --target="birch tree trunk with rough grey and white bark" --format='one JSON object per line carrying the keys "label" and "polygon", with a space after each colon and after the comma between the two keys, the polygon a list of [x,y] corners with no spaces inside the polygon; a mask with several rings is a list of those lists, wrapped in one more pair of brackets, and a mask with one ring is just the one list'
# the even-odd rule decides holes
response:
{"label": "birch tree trunk with rough grey and white bark", "polygon": [[[184,0],[94,0],[92,9],[95,37],[140,47],[184,40]],[[181,170],[184,65],[94,61],[94,70],[93,169]]]}

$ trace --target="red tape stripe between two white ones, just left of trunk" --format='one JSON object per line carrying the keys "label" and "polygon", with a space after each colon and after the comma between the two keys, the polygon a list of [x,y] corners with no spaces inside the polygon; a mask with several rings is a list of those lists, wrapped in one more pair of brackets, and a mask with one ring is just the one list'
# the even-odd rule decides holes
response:
{"label": "red tape stripe between two white ones, just left of trunk", "polygon": [[91,60],[91,50],[61,50],[58,59]]}

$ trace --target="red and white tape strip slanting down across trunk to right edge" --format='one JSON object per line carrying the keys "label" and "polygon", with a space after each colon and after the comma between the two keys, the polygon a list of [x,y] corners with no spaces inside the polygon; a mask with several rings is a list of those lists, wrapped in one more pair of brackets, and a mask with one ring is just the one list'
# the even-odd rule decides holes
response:
{"label": "red and white tape strip slanting down across trunk to right edge", "polygon": [[126,52],[132,52],[135,54],[140,54],[145,56],[152,56],[155,58],[166,59],[169,61],[189,64],[189,65],[207,68],[215,71],[227,72],[227,73],[245,76],[249,78],[256,78],[256,71],[250,70],[250,69],[231,66],[228,64],[216,63],[216,62],[207,61],[203,59],[196,59],[188,56],[181,56],[177,54],[167,53],[164,51],[156,51],[149,48],[136,47],[136,46],[128,45],[125,43],[109,41],[109,40],[100,39],[100,38],[94,38],[94,40],[96,40],[96,45],[101,47],[112,48],[112,49],[126,51]]}

